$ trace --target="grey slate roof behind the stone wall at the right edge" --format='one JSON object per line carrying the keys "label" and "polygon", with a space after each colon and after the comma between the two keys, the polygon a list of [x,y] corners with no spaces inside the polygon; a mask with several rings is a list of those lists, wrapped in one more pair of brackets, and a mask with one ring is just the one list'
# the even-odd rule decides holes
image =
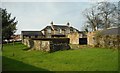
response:
{"label": "grey slate roof behind the stone wall at the right edge", "polygon": [[102,33],[103,35],[117,35],[117,34],[120,35],[120,27],[118,27],[118,28],[106,29],[106,30],[103,30],[101,33]]}

